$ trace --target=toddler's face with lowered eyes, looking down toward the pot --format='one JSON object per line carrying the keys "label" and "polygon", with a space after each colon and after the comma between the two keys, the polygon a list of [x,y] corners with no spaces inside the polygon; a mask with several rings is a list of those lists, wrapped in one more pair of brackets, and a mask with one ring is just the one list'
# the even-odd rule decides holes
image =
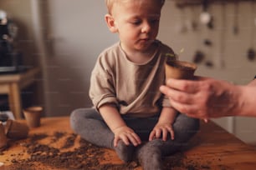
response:
{"label": "toddler's face with lowered eyes, looking down toward the pot", "polygon": [[157,1],[121,0],[114,5],[112,17],[123,48],[143,52],[151,47],[161,17],[161,5]]}

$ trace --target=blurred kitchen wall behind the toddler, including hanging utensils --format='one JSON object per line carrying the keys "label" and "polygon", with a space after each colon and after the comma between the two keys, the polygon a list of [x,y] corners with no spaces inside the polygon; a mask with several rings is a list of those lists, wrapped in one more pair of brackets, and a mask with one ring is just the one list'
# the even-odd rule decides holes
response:
{"label": "blurred kitchen wall behind the toddler, including hanging utensils", "polygon": [[[0,0],[0,10],[18,28],[13,44],[23,65],[40,68],[36,84],[21,92],[23,107],[42,105],[46,117],[91,107],[90,72],[99,53],[118,41],[105,24],[105,2]],[[158,39],[181,60],[196,62],[197,75],[246,84],[256,75],[256,2],[166,0]],[[256,118],[213,121],[256,143]]]}

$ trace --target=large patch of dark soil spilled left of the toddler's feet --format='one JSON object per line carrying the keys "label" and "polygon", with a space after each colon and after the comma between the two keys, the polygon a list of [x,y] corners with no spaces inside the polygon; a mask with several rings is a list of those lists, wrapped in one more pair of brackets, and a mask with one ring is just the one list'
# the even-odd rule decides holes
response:
{"label": "large patch of dark soil spilled left of the toddler's feet", "polygon": [[[64,138],[64,143],[58,148],[54,148],[51,144],[42,144],[41,140],[49,138],[50,143],[58,143]],[[19,155],[13,154],[12,165],[8,166],[8,170],[40,170],[38,164],[46,165],[51,169],[86,169],[86,170],[107,170],[120,169],[130,170],[138,167],[137,163],[124,164],[100,164],[100,160],[104,160],[104,149],[88,143],[84,139],[79,138],[79,148],[74,147],[74,142],[78,136],[74,133],[56,132],[54,135],[44,133],[33,134],[24,143],[24,153]],[[24,154],[28,154],[28,158],[23,158]]]}

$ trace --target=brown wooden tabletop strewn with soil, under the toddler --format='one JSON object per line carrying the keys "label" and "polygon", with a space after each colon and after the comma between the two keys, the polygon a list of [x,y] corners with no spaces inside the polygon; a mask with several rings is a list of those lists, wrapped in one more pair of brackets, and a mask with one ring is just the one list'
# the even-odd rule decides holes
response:
{"label": "brown wooden tabletop strewn with soil, under the toddler", "polygon": [[[110,149],[81,140],[71,130],[69,117],[48,117],[41,122],[39,128],[30,129],[28,138],[9,141],[10,147],[0,153],[0,163],[4,163],[0,169],[142,169],[136,162],[122,163]],[[189,145],[163,161],[166,169],[253,170],[256,150],[214,122],[201,122],[200,132]]]}

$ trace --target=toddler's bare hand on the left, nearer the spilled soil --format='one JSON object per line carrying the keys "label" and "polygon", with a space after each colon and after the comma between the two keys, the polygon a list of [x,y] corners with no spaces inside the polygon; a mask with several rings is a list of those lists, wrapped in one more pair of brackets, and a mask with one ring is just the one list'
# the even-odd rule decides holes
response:
{"label": "toddler's bare hand on the left, nearer the spilled soil", "polygon": [[122,140],[125,145],[132,143],[134,146],[137,146],[141,144],[141,138],[127,126],[115,128],[113,133],[115,134],[114,147],[117,146],[119,140]]}

